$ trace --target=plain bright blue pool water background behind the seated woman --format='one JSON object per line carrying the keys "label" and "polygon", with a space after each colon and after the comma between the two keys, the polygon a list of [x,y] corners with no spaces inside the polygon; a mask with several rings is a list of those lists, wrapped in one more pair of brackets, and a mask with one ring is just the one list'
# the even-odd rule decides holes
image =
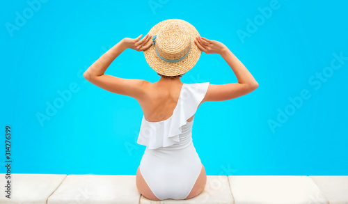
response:
{"label": "plain bright blue pool water background behind the seated woman", "polygon": [[[82,73],[122,38],[177,18],[227,45],[260,84],[251,94],[198,109],[193,143],[207,175],[347,175],[348,61],[326,68],[334,54],[348,56],[347,1],[30,2],[40,1],[0,7],[0,124],[3,136],[5,125],[12,128],[13,173],[135,175],[145,150],[136,143],[141,107]],[[262,16],[266,7],[272,13]],[[323,72],[324,79],[316,77]],[[106,74],[159,80],[132,49]],[[203,53],[182,82],[205,81],[237,79],[221,56]],[[64,100],[59,93],[68,91]],[[301,92],[307,92],[302,102]],[[47,116],[54,102],[61,107]],[[40,123],[38,114],[47,120]]]}

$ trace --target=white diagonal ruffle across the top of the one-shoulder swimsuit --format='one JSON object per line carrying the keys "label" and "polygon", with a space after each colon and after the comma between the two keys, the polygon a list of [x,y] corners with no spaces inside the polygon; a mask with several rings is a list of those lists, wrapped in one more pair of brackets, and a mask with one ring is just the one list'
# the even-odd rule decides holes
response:
{"label": "white diagonal ruffle across the top of the one-shoulder swimsuit", "polygon": [[198,105],[205,97],[209,82],[196,84],[182,84],[177,105],[171,117],[158,122],[141,121],[138,141],[140,145],[149,149],[172,146],[180,142],[179,135],[182,133],[182,126],[192,123],[187,122],[198,109]]}

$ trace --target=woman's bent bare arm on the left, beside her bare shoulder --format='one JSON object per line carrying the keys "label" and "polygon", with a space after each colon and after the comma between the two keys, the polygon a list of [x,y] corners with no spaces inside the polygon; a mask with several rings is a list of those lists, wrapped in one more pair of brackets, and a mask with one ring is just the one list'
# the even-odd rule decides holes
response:
{"label": "woman's bent bare arm on the left, beside her bare shoulder", "polygon": [[100,58],[98,58],[97,61],[90,65],[86,72],[84,72],[85,79],[106,91],[128,95],[139,99],[143,93],[143,84],[147,81],[142,79],[122,79],[120,77],[104,74],[104,72],[109,68],[109,65],[111,65],[116,57],[125,51],[125,49],[131,48],[141,52],[151,47],[152,43],[145,45],[146,42],[150,40],[151,36],[146,35],[140,40],[141,36],[142,35],[134,39],[124,38],[111,47],[111,49],[100,56]]}

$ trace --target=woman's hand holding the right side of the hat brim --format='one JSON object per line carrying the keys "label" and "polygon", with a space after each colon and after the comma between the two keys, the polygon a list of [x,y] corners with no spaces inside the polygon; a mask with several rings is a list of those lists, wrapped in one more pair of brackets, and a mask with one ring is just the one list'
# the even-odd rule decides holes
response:
{"label": "woman's hand holding the right side of the hat brim", "polygon": [[223,50],[227,48],[226,45],[223,45],[221,42],[208,40],[207,38],[202,38],[200,36],[196,37],[195,42],[198,48],[206,54],[221,54]]}

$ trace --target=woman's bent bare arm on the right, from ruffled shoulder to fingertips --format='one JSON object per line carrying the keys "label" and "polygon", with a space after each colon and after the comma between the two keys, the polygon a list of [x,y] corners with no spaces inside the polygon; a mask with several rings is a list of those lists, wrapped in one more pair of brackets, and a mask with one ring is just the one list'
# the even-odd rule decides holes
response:
{"label": "woman's bent bare arm on the right, from ruffled shoulder to fingertips", "polygon": [[231,100],[242,95],[251,93],[258,88],[258,82],[253,75],[246,69],[241,61],[221,42],[216,40],[208,40],[207,38],[198,37],[195,40],[196,45],[206,54],[220,54],[223,59],[230,65],[235,73],[238,83],[230,84],[209,84],[207,93],[202,102],[205,101],[221,101]]}

